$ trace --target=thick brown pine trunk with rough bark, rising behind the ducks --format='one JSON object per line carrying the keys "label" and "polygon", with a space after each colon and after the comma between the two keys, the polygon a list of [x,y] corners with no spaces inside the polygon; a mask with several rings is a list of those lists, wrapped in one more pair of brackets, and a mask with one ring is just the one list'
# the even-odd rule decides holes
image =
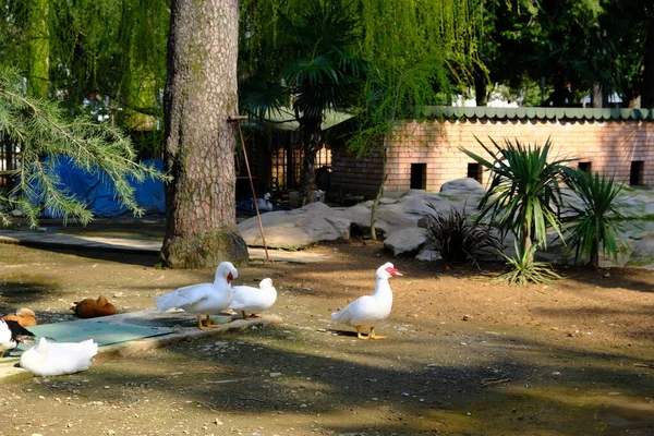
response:
{"label": "thick brown pine trunk with rough bark, rising behind the ducks", "polygon": [[235,218],[238,0],[173,0],[166,86],[167,228],[177,268],[247,259]]}

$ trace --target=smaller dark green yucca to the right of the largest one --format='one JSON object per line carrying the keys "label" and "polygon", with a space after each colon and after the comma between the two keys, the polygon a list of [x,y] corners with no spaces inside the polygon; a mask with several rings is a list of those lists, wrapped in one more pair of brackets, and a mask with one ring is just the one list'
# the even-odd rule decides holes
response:
{"label": "smaller dark green yucca to the right of the largest one", "polygon": [[567,241],[574,247],[574,261],[580,257],[590,259],[590,264],[600,267],[600,253],[618,256],[616,233],[619,221],[625,216],[616,208],[615,199],[622,185],[604,174],[590,174],[585,171],[570,171],[568,186],[579,196],[571,202],[571,214],[566,218],[569,231]]}

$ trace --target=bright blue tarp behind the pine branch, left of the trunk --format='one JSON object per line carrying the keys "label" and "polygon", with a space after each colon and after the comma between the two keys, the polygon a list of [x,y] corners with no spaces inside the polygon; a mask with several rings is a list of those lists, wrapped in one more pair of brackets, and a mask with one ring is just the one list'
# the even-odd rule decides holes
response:
{"label": "bright blue tarp behind the pine branch, left of the trunk", "polygon": [[[159,171],[164,171],[162,159],[147,159],[144,165],[153,166]],[[68,190],[78,199],[87,203],[87,207],[96,217],[118,217],[131,214],[131,210],[121,206],[116,197],[113,182],[102,171],[87,172],[75,168],[71,158],[62,157],[52,165],[55,171],[61,180],[60,187]],[[134,197],[136,204],[142,207],[146,214],[164,214],[166,211],[166,194],[164,192],[164,182],[160,180],[146,179],[138,182],[128,178],[130,185],[135,190]],[[51,218],[61,218],[51,210],[44,210],[44,216]]]}

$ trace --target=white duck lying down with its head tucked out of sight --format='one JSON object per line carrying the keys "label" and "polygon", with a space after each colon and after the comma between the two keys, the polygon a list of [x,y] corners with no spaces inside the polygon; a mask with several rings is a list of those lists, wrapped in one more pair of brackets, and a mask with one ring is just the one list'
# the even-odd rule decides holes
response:
{"label": "white duck lying down with its head tucked out of sight", "polygon": [[82,342],[48,342],[40,338],[38,346],[21,355],[21,367],[34,375],[74,374],[90,367],[90,360],[98,353],[98,344],[93,339]]}

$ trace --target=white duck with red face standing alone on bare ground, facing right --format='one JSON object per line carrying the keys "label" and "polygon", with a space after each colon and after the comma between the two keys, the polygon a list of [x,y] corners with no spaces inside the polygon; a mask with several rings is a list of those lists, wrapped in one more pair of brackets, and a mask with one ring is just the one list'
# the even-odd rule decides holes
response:
{"label": "white duck with red face standing alone on bare ground, facing right", "polygon": [[[356,328],[359,339],[384,339],[385,336],[375,335],[375,326],[386,319],[392,307],[392,291],[388,279],[401,276],[390,262],[377,268],[377,280],[375,292],[372,295],[360,296],[346,307],[331,314],[331,319]],[[367,336],[361,335],[361,330],[370,327]]]}

